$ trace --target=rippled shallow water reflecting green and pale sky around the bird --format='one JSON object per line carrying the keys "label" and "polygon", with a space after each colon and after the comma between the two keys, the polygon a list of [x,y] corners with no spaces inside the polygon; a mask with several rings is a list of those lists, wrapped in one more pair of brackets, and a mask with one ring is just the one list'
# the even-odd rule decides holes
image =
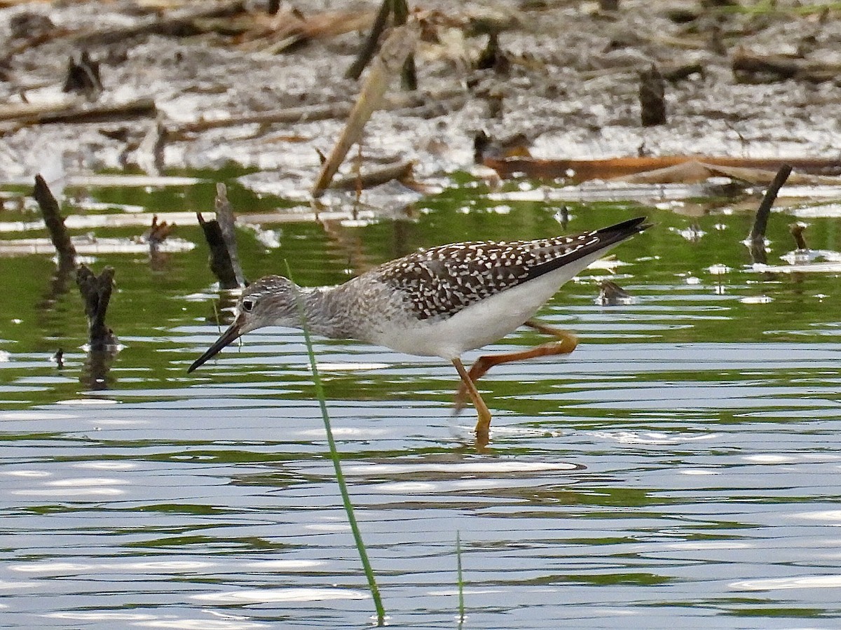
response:
{"label": "rippled shallow water reflecting green and pale sky around the bird", "polygon": [[[212,207],[213,186],[86,194],[115,213],[189,212]],[[277,248],[242,230],[241,258],[251,278],[288,260],[301,283],[333,283],[418,246],[563,231],[557,204],[476,194],[424,200],[414,222],[284,224]],[[469,410],[452,417],[451,366],[315,339],[389,625],[458,627],[458,534],[463,627],[838,627],[838,270],[754,271],[746,216],[570,213],[576,232],[657,224],[544,309],[579,333],[574,354],[487,375],[485,453]],[[794,249],[790,221],[771,219],[769,265]],[[837,219],[811,221],[813,248],[841,249]],[[197,246],[92,262],[117,270],[109,323],[125,347],[109,366],[80,348],[81,302],[45,255],[0,259],[3,625],[367,627],[302,335],[251,333],[188,375],[218,332],[218,293],[198,228],[174,235]],[[596,305],[601,278],[635,302]],[[521,330],[490,349],[542,340]]]}

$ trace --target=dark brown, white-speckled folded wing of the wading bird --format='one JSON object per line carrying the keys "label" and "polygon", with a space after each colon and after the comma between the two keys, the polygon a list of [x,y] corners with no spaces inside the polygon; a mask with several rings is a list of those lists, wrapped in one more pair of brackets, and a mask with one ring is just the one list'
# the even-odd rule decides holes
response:
{"label": "dark brown, white-speckled folded wing of the wading bird", "polygon": [[500,291],[605,249],[648,225],[635,218],[609,228],[550,239],[475,241],[421,249],[375,270],[405,294],[419,319],[449,317]]}

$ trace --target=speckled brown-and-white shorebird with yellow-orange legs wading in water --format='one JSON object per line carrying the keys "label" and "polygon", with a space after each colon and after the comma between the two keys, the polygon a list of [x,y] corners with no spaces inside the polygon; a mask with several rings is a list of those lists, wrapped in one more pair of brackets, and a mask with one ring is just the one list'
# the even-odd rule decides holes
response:
{"label": "speckled brown-and-white shorebird with yellow-orange legs wading in water", "polygon": [[[264,326],[306,327],[331,339],[359,339],[407,354],[437,356],[458,370],[462,382],[456,410],[469,396],[478,416],[476,440],[485,445],[491,416],[475,381],[500,363],[572,352],[578,344],[573,333],[532,317],[564,282],[648,227],[640,217],[572,236],[439,245],[338,286],[298,286],[283,276],[266,276],[244,289],[234,323],[188,372]],[[558,340],[520,352],[487,354],[469,372],[464,368],[464,352],[522,325]]]}

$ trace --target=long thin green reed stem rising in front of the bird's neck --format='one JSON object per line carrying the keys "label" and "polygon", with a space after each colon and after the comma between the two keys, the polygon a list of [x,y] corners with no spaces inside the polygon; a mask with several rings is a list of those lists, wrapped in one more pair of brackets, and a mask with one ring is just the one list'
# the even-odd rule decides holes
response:
{"label": "long thin green reed stem rising in front of the bird's neck", "polygon": [[[284,263],[286,265],[286,276],[292,280],[292,270],[289,267],[289,263],[288,261],[284,261]],[[353,503],[351,501],[350,492],[347,491],[345,475],[341,471],[341,457],[338,449],[336,449],[336,440],[333,438],[333,430],[330,424],[330,414],[327,412],[327,399],[324,393],[324,386],[321,383],[318,365],[315,363],[315,350],[313,349],[312,339],[309,337],[309,326],[307,325],[307,319],[304,313],[304,302],[301,301],[300,294],[298,294],[297,297],[298,309],[301,316],[301,328],[304,331],[304,344],[306,344],[307,356],[309,357],[309,368],[313,373],[315,396],[318,398],[319,408],[321,410],[321,419],[324,421],[324,429],[327,435],[327,445],[330,448],[330,459],[333,462],[333,470],[336,471],[336,484],[339,486],[341,502],[345,507],[347,522],[351,526],[353,542],[356,544],[359,559],[362,561],[362,570],[365,571],[365,577],[368,579],[368,589],[371,591],[373,605],[377,609],[377,625],[383,626],[385,625],[385,608],[383,608],[383,600],[379,595],[377,578],[373,574],[371,561],[368,559],[368,550],[365,548],[364,541],[362,541],[362,533],[359,531],[356,514],[353,512]]]}

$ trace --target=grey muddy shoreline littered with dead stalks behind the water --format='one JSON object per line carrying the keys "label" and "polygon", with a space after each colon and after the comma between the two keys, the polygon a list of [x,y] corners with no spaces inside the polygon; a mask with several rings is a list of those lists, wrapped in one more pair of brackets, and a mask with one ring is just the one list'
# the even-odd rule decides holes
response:
{"label": "grey muddy shoreline littered with dead stalks behind the water", "polygon": [[[93,122],[33,123],[6,115],[0,177],[23,181],[56,162],[72,174],[238,165],[257,171],[250,177],[263,192],[301,197],[318,171],[318,152],[330,150],[357,93],[358,82],[344,74],[378,3],[283,6],[275,16],[261,3],[246,3],[171,33],[137,29],[198,5],[231,3],[0,9],[0,38],[12,51],[0,82],[4,109],[152,103],[141,113]],[[430,24],[416,55],[419,89],[402,92],[395,82],[386,107],[366,127],[363,163],[414,160],[419,179],[446,181],[472,165],[480,130],[495,139],[521,134],[532,155],[546,158],[841,154],[841,73],[832,72],[841,64],[838,11],[797,13],[794,3],[778,3],[773,13],[701,3],[652,8],[635,0],[621,2],[616,12],[597,3],[551,2],[413,8]],[[312,28],[283,48],[291,40],[280,35],[295,33],[294,20]],[[103,35],[118,28],[140,32]],[[489,30],[498,34],[500,60],[477,69]],[[98,64],[101,89],[87,96],[62,92],[68,60],[83,52]],[[785,77],[773,66],[734,71],[734,58],[746,53],[785,60],[800,73]],[[665,85],[667,123],[643,127],[638,73],[653,63],[677,74]],[[324,115],[312,116],[318,119],[259,121],[262,113],[302,108],[307,118],[325,107]],[[247,116],[257,122],[194,129],[202,121]],[[356,153],[345,171],[352,171]]]}

